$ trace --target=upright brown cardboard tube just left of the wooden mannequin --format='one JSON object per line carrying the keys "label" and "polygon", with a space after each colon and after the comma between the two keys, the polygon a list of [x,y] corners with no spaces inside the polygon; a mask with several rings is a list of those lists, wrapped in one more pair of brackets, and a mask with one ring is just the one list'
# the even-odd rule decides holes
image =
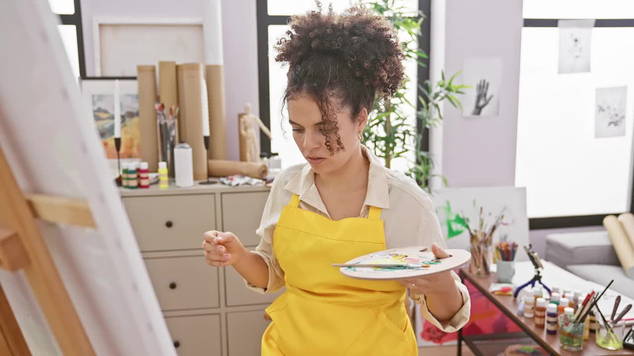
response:
{"label": "upright brown cardboard tube just left of the wooden mannequin", "polygon": [[209,158],[227,159],[226,117],[224,110],[224,75],[222,65],[207,65],[207,96],[209,97],[210,147]]}

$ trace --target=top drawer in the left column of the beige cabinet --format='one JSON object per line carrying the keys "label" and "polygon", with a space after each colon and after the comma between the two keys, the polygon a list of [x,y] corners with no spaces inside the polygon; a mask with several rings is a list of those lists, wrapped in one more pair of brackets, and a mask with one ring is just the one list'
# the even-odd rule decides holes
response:
{"label": "top drawer in the left column of the beige cabinet", "polygon": [[124,198],[141,251],[201,248],[216,229],[214,194]]}

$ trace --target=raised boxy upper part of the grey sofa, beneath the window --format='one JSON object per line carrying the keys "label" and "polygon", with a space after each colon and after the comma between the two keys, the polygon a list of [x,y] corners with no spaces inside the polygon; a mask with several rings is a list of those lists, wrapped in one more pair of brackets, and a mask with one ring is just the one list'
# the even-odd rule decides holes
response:
{"label": "raised boxy upper part of the grey sofa, beneath the window", "polygon": [[548,234],[545,260],[562,268],[579,264],[621,265],[605,230]]}

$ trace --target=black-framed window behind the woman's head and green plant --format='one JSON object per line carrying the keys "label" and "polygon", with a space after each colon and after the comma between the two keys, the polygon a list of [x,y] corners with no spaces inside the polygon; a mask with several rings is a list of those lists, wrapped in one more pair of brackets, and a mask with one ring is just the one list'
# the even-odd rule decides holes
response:
{"label": "black-framed window behind the woman's head and green plant", "polygon": [[[323,1],[323,6],[332,3],[333,10],[341,11],[347,8],[351,1],[335,0]],[[358,1],[353,1],[358,3]],[[397,0],[396,6],[405,6],[407,9],[415,10],[420,7],[425,14],[429,14],[429,0]],[[316,8],[314,0],[286,1],[268,0],[257,2],[257,38],[258,38],[258,67],[259,67],[259,87],[260,87],[260,116],[262,122],[271,129],[273,139],[269,143],[268,137],[262,134],[262,152],[276,152],[280,154],[283,167],[286,168],[297,163],[306,162],[292,138],[292,129],[288,124],[287,108],[282,110],[282,96],[286,87],[287,67],[282,67],[281,63],[275,61],[273,46],[288,29],[288,16],[306,13],[306,11]],[[326,11],[326,9],[324,9]],[[424,29],[420,37],[421,48],[429,53],[429,18],[425,19]],[[262,53],[266,53],[263,55]],[[411,78],[411,87],[408,88],[408,96],[412,103],[417,102],[417,86],[415,83],[423,82],[429,78],[429,71],[426,68],[419,68],[415,61],[405,63],[406,74]],[[410,113],[408,113],[410,114]],[[411,124],[415,124],[415,112],[411,110]],[[425,139],[424,141],[427,141]],[[413,158],[414,152],[411,152]],[[406,170],[407,161],[397,159],[392,162],[392,168]]]}

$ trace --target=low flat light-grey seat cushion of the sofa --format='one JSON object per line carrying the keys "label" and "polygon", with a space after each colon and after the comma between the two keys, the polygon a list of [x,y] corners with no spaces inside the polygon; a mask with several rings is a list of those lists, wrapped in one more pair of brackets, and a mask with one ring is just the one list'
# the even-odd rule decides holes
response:
{"label": "low flat light-grey seat cushion of the sofa", "polygon": [[628,278],[623,267],[612,265],[569,265],[566,269],[577,276],[594,283],[607,286],[612,279],[610,289],[634,299],[634,279]]}

